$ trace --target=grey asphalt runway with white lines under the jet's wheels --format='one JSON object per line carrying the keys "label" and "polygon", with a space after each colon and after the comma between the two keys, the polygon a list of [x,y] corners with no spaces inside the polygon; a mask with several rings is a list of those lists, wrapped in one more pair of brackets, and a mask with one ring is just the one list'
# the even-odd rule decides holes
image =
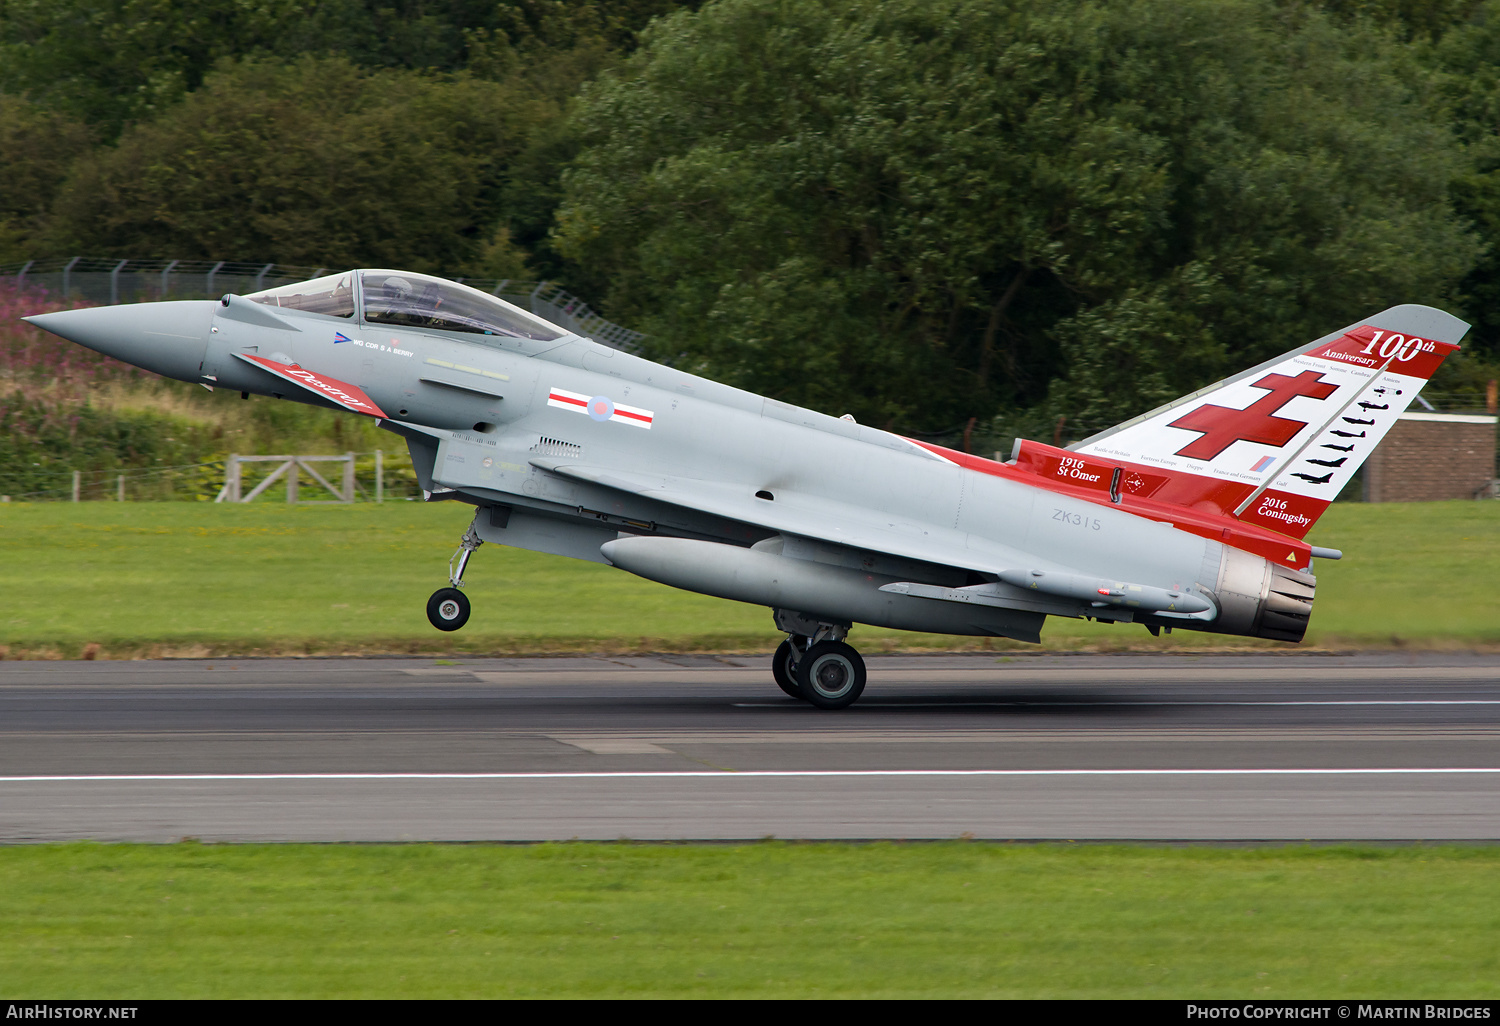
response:
{"label": "grey asphalt runway with white lines under the jet's wheels", "polygon": [[1500,657],[0,663],[0,840],[1500,840]]}

